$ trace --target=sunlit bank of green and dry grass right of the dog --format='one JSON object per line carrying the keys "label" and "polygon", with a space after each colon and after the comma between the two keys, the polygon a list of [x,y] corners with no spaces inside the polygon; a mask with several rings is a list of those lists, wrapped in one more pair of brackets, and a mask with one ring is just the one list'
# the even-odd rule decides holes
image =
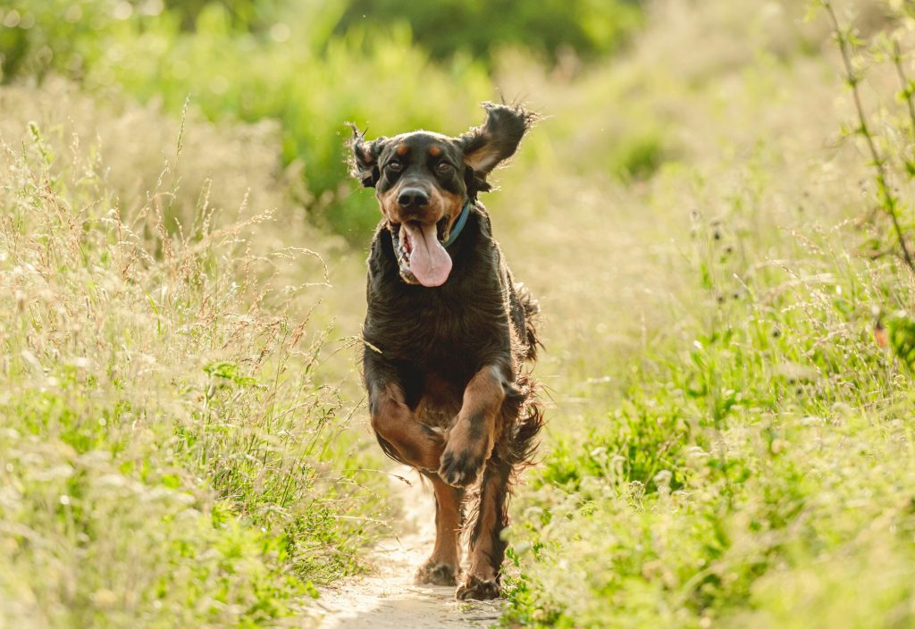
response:
{"label": "sunlit bank of green and dry grass right of the dog", "polygon": [[[693,35],[677,43],[701,48],[709,21],[723,56],[746,48],[739,38],[756,20],[782,37],[802,28],[799,43],[824,30],[734,11],[692,12]],[[675,33],[657,16],[644,35],[651,49],[619,75],[640,71],[651,84],[681,68],[673,46],[661,60],[654,46]],[[554,322],[540,370],[556,408],[549,452],[515,508],[504,624],[915,622],[915,286],[899,257],[862,254],[874,234],[892,242],[888,217],[853,220],[878,201],[870,165],[850,142],[831,145],[855,113],[834,57],[804,48],[780,61],[767,44],[736,68],[698,69],[702,89],[684,69],[647,90],[643,109],[669,99],[688,121],[677,164],[605,192],[612,219],[577,197],[590,211],[563,213],[568,240],[525,233],[533,251],[522,259],[535,265],[552,242],[562,252],[550,271],[572,285],[539,289],[562,295],[544,304]],[[891,95],[890,71],[871,69],[867,93]],[[711,107],[722,90],[728,100]],[[867,111],[890,137],[909,124],[901,108]],[[899,163],[910,141],[878,142],[898,168],[894,185],[909,190]]]}

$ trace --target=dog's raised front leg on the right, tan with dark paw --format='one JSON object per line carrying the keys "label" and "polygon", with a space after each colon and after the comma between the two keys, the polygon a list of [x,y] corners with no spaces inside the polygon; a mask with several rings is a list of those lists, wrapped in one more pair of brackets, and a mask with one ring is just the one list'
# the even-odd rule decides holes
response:
{"label": "dog's raised front leg on the right, tan with dark paw", "polygon": [[505,400],[503,368],[480,369],[464,389],[458,418],[448,429],[438,475],[448,485],[466,487],[477,480],[490,458],[501,425],[497,421]]}

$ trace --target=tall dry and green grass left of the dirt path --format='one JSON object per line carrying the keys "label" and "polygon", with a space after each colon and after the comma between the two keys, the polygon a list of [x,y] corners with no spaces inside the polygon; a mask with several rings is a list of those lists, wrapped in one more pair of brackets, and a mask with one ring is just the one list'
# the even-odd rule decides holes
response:
{"label": "tall dry and green grass left of the dirt path", "polygon": [[[56,106],[25,92],[4,97]],[[317,297],[282,283],[290,264],[325,283],[320,261],[253,244],[279,228],[269,212],[226,220],[209,184],[178,191],[192,124],[141,198],[113,192],[102,148],[70,124],[24,127],[0,188],[0,616],[307,623],[315,584],[361,568],[381,513],[376,460],[314,377]],[[169,229],[188,192],[193,214]]]}

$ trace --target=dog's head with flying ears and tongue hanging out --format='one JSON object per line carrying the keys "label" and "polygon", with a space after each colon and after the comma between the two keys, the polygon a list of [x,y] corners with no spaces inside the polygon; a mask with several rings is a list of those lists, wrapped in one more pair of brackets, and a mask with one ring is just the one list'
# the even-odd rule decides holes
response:
{"label": "dog's head with flying ears and tongue hanging out", "polygon": [[483,107],[486,122],[459,137],[414,131],[370,142],[352,126],[350,173],[375,188],[404,282],[447,281],[444,243],[462,209],[490,190],[487,176],[514,155],[536,120],[521,106]]}

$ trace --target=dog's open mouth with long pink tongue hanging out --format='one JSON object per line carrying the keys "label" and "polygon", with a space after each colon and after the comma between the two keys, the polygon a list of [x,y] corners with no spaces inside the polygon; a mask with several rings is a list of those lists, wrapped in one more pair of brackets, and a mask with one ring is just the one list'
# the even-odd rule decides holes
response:
{"label": "dog's open mouth with long pink tongue hanging out", "polygon": [[451,256],[442,244],[447,239],[448,217],[436,223],[390,223],[394,253],[404,282],[441,286],[451,272]]}

